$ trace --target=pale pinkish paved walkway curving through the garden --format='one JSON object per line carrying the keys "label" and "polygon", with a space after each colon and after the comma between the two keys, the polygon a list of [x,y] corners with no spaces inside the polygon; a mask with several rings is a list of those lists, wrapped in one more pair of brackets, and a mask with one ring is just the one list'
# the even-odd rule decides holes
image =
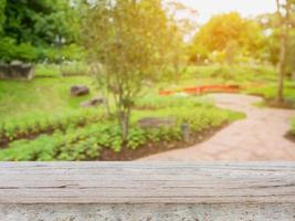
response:
{"label": "pale pinkish paved walkway curving through the garden", "polygon": [[260,97],[238,94],[210,95],[220,107],[243,112],[246,119],[235,122],[209,140],[141,160],[295,160],[295,144],[284,138],[294,110],[260,108]]}

